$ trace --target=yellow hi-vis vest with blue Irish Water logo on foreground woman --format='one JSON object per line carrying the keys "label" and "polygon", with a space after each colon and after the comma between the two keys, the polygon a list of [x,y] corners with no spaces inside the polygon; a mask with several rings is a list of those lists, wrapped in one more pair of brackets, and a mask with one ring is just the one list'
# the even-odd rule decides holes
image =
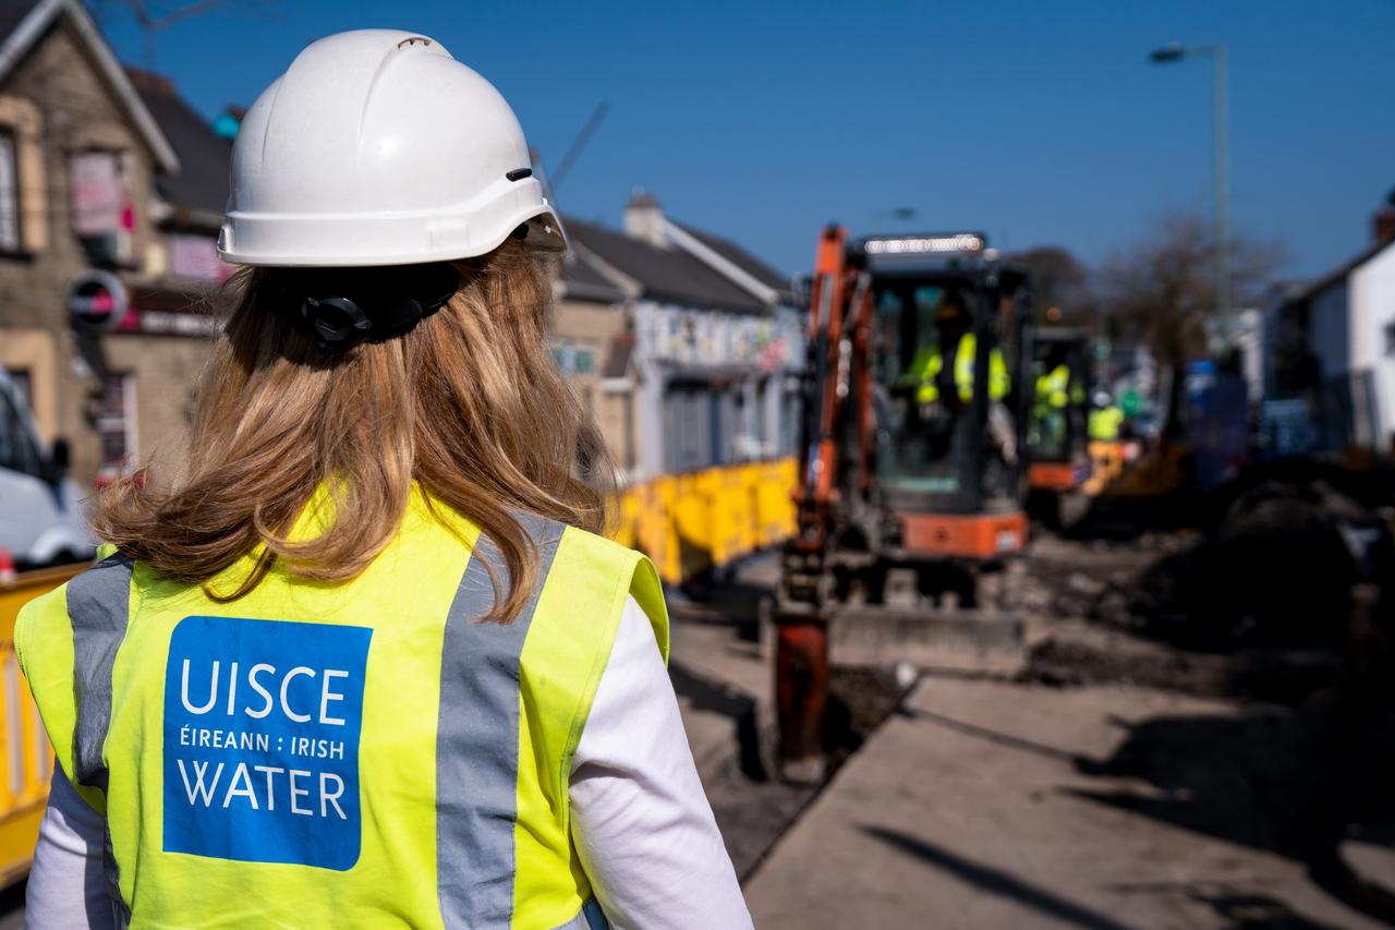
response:
{"label": "yellow hi-vis vest with blue Irish Water logo on foreground woman", "polygon": [[[357,578],[282,568],[219,603],[121,554],[29,603],[15,652],[57,761],[107,822],[135,927],[605,926],[568,781],[626,595],[653,566],[526,517],[523,614],[478,623],[498,550],[413,494]],[[236,586],[250,557],[211,582]]]}

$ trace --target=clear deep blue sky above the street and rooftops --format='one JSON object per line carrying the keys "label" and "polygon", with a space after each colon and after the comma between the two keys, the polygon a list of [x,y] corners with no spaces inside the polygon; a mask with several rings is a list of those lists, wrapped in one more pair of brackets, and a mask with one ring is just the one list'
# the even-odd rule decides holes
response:
{"label": "clear deep blue sky above the street and rooftops", "polygon": [[[102,27],[149,64],[128,18]],[[1286,276],[1364,247],[1395,187],[1395,0],[282,0],[156,32],[153,67],[212,116],[306,42],[367,27],[424,32],[490,78],[544,166],[608,102],[564,211],[617,223],[643,187],[787,272],[830,219],[1098,263],[1168,211],[1208,212],[1211,67],[1147,64],[1169,40],[1229,47],[1233,223],[1282,242]],[[889,221],[901,205],[918,218]]]}

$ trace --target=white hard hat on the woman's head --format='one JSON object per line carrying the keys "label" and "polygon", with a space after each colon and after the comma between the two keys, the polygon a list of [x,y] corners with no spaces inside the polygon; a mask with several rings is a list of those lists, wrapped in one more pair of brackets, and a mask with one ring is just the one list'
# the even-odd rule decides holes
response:
{"label": "white hard hat on the woman's head", "polygon": [[483,256],[525,228],[564,247],[518,117],[414,32],[307,46],[233,144],[218,254],[244,265],[402,265]]}

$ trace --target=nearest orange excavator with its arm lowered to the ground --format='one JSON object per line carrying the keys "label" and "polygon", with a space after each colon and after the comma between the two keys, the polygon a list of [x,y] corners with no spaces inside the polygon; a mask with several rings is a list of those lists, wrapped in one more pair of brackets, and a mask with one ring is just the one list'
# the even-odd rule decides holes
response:
{"label": "nearest orange excavator with its arm lowered to the ground", "polygon": [[830,631],[929,628],[932,654],[1020,638],[981,623],[979,580],[1027,542],[1031,318],[1028,271],[981,233],[820,235],[776,609],[787,779],[822,776]]}

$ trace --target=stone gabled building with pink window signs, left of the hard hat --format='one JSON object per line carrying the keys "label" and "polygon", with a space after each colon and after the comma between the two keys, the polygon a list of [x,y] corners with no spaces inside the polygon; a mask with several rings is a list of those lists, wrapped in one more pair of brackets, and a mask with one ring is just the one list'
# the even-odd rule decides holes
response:
{"label": "stone gabled building with pink window signs, left of the hard hat", "polygon": [[183,447],[227,156],[81,3],[0,1],[0,364],[80,485]]}

